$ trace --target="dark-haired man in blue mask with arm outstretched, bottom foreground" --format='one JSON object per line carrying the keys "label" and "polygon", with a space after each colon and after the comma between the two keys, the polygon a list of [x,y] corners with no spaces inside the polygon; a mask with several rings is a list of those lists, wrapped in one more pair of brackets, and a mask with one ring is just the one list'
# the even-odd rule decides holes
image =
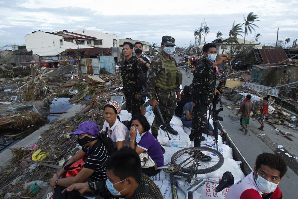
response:
{"label": "dark-haired man in blue mask with arm outstretched, bottom foreground", "polygon": [[142,174],[141,160],[129,147],[113,153],[106,162],[106,184],[100,182],[75,183],[63,192],[77,190],[84,192],[102,192],[103,198],[121,197],[125,199],[163,199],[159,188],[145,174]]}

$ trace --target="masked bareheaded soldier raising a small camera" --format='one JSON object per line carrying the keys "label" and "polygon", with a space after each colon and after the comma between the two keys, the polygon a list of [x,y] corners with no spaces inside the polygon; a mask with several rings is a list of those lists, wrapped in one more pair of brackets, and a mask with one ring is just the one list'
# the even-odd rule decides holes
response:
{"label": "masked bareheaded soldier raising a small camera", "polygon": [[[219,93],[215,89],[216,75],[218,74],[218,64],[225,61],[227,55],[222,54],[216,59],[216,46],[205,44],[203,47],[204,58],[197,63],[193,71],[192,80],[192,131],[190,139],[194,141],[194,146],[200,146],[202,133],[207,132],[206,117],[207,108],[213,100],[213,96]],[[220,93],[219,93],[220,95]]]}

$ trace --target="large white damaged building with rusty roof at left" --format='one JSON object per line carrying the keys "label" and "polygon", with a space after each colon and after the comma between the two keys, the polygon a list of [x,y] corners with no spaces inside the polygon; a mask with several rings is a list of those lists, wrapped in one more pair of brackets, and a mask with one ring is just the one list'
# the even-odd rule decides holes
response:
{"label": "large white damaged building with rusty roof at left", "polygon": [[32,50],[34,54],[55,56],[67,49],[93,48],[93,46],[119,47],[119,36],[84,29],[75,32],[63,30],[52,33],[39,30],[25,36],[25,45],[27,50]]}

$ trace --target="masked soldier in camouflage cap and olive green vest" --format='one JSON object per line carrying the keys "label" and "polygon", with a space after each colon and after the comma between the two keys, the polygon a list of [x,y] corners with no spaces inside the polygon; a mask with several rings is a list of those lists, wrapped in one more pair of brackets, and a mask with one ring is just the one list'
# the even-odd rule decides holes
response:
{"label": "masked soldier in camouflage cap and olive green vest", "polygon": [[[182,73],[177,70],[177,63],[170,55],[175,51],[175,39],[171,36],[163,36],[161,40],[159,53],[151,62],[149,67],[149,75],[147,78],[147,93],[150,99],[150,105],[153,107],[155,114],[151,133],[157,139],[158,130],[162,124],[158,117],[154,107],[159,105],[161,114],[167,124],[166,130],[177,135],[170,125],[170,121],[175,113],[176,102],[181,100],[181,94],[179,86],[182,83]],[[175,93],[177,94],[177,100]],[[156,98],[157,96],[157,98]],[[157,101],[159,100],[159,102]],[[163,153],[165,149],[161,147]]]}

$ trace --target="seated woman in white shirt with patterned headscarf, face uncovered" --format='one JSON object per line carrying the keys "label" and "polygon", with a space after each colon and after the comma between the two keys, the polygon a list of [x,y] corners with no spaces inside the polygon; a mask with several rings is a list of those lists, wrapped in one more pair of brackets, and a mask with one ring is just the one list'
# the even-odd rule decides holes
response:
{"label": "seated woman in white shirt with patterned headscarf, face uncovered", "polygon": [[107,134],[116,150],[120,150],[123,146],[129,146],[129,130],[120,122],[118,116],[121,111],[120,105],[115,101],[109,101],[103,110],[105,122],[102,134]]}

